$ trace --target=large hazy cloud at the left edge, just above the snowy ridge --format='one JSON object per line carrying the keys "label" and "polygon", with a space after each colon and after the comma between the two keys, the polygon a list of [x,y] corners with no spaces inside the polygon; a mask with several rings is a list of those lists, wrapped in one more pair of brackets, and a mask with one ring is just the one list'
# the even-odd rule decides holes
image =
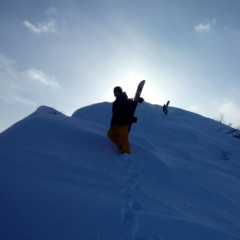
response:
{"label": "large hazy cloud at the left edge, just above the snowy ridge", "polygon": [[19,72],[15,62],[0,54],[0,101],[36,105],[37,97],[43,92],[51,94],[60,85],[41,70],[31,68]]}

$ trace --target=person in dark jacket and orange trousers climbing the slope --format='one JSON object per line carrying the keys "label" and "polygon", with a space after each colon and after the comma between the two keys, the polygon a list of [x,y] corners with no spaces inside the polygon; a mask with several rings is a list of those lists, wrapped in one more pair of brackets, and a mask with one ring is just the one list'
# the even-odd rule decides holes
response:
{"label": "person in dark jacket and orange trousers climbing the slope", "polygon": [[135,103],[128,99],[127,94],[119,86],[113,89],[113,93],[116,99],[112,104],[112,118],[107,135],[112,142],[117,144],[121,154],[130,154],[128,133],[133,122]]}

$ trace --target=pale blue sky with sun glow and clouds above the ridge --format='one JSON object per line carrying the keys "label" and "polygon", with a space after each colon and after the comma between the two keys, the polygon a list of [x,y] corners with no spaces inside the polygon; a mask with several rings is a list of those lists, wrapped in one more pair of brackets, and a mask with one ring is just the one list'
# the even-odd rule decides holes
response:
{"label": "pale blue sky with sun glow and clouds above the ridge", "polygon": [[146,102],[240,126],[238,0],[0,1],[0,132],[38,106],[66,115]]}

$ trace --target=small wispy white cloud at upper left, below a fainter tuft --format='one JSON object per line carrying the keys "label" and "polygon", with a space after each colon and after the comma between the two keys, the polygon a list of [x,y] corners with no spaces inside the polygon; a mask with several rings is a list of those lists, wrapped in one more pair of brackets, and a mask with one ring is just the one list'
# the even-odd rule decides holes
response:
{"label": "small wispy white cloud at upper left, below a fainter tuft", "polygon": [[23,21],[24,26],[29,29],[31,32],[35,34],[41,33],[56,33],[56,21],[54,19],[50,19],[48,22],[37,23],[37,25],[33,25],[29,21]]}

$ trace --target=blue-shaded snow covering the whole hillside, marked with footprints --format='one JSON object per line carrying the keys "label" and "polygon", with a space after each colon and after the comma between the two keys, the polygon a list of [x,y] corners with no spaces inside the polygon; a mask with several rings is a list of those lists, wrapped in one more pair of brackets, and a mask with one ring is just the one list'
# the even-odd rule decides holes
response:
{"label": "blue-shaded snow covering the whole hillside, marked with footprints", "polygon": [[[111,103],[46,106],[0,134],[1,240],[239,240],[240,140],[212,119],[139,104],[131,155]],[[234,132],[234,131],[233,131]]]}

